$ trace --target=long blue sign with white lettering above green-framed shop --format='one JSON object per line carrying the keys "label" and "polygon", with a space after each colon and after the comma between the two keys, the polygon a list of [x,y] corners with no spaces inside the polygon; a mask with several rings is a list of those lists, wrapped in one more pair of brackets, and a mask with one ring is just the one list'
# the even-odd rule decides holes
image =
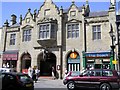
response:
{"label": "long blue sign with white lettering above green-framed shop", "polygon": [[87,58],[106,58],[110,57],[110,52],[86,53]]}

